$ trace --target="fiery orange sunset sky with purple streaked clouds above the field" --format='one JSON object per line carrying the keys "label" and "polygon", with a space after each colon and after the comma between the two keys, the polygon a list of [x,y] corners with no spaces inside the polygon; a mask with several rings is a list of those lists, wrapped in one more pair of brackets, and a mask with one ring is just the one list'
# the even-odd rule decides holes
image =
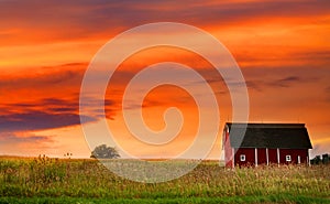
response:
{"label": "fiery orange sunset sky with purple streaked clouds above the field", "polygon": [[[245,78],[249,121],[306,124],[311,155],[330,153],[328,0],[1,0],[0,154],[63,157],[70,152],[74,158],[88,158],[89,146],[98,144],[86,141],[79,118],[80,86],[89,63],[118,34],[156,22],[186,23],[212,34]],[[153,36],[146,33],[145,37]],[[168,107],[182,110],[183,130],[175,139],[164,146],[144,146],[125,128],[121,106],[125,86],[138,72],[162,62],[193,67],[215,90],[220,124],[208,158],[220,158],[221,131],[232,119],[230,93],[209,62],[176,47],[141,51],[118,67],[105,95],[107,125],[118,139],[109,146],[141,158],[172,158],[194,141],[196,101],[185,89],[169,85],[152,89],[142,110],[145,124],[155,131],[166,127],[163,114]],[[89,98],[89,103],[102,100]],[[101,116],[86,117],[85,125],[98,129]]]}

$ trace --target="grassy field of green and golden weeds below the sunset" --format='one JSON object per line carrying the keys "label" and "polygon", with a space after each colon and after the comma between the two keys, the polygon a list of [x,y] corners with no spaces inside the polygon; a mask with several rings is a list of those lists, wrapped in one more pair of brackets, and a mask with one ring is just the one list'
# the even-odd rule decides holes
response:
{"label": "grassy field of green and golden weeds below the sunset", "polygon": [[228,170],[206,161],[177,180],[138,183],[96,160],[0,158],[0,203],[330,203],[330,165]]}

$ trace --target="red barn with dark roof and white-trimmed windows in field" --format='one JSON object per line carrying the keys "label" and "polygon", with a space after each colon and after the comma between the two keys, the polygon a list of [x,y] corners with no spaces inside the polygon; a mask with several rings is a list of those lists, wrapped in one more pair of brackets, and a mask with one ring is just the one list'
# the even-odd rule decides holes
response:
{"label": "red barn with dark roof and white-trimmed windows in field", "polygon": [[228,168],[309,163],[312,148],[305,124],[227,122],[222,143]]}

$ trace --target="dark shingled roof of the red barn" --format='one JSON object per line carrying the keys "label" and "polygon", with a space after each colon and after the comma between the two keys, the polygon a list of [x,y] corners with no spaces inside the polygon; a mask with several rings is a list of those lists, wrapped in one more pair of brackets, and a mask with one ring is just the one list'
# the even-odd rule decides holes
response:
{"label": "dark shingled roof of the red barn", "polygon": [[[233,148],[311,149],[305,124],[226,124]],[[244,128],[246,131],[244,133]]]}

